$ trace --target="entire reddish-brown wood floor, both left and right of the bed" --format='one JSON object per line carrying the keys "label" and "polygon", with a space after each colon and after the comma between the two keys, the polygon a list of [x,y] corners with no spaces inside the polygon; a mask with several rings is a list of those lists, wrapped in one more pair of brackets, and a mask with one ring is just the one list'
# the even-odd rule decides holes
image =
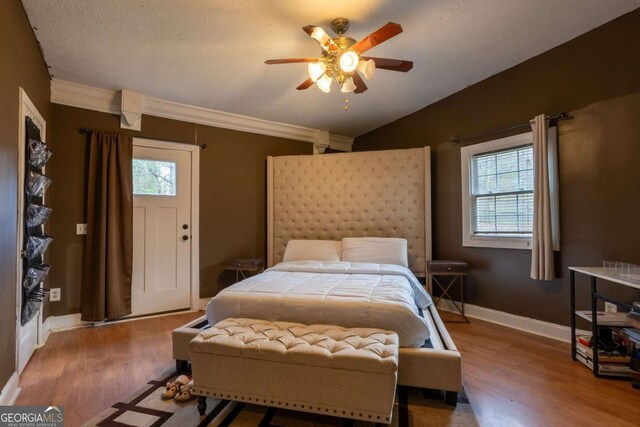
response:
{"label": "entire reddish-brown wood floor, both left and right of the bed", "polygon": [[[16,404],[64,405],[65,425],[78,426],[170,366],[171,330],[199,315],[54,333],[23,372]],[[482,426],[640,424],[640,391],[594,378],[568,344],[477,320],[447,329]]]}

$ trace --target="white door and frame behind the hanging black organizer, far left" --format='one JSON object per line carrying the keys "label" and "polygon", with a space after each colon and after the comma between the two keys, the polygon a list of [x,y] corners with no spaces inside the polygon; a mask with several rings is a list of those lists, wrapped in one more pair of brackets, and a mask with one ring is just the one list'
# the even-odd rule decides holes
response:
{"label": "white door and frame behind the hanging black organizer, far left", "polygon": [[[30,117],[31,120],[40,128],[40,138],[42,141],[47,137],[47,123],[44,121],[35,105],[26,92],[20,88],[19,91],[19,131],[18,131],[18,222],[17,227],[17,274],[18,287],[17,287],[17,359],[18,359],[18,373],[22,372],[27,362],[36,350],[36,347],[41,343],[43,335],[42,332],[42,309],[38,310],[38,313],[27,322],[25,325],[20,325],[20,313],[22,310],[22,243],[24,239],[24,177],[25,177],[25,119]],[[44,168],[43,168],[44,170]],[[44,199],[43,199],[44,201]],[[42,286],[42,285],[41,285]]]}

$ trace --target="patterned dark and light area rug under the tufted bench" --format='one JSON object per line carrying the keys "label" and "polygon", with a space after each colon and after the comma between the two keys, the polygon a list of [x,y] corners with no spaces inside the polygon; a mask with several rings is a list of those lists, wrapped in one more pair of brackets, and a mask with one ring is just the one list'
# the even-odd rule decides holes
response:
{"label": "patterned dark and light area rug under the tufted bench", "polygon": [[[86,427],[158,427],[158,426],[231,426],[231,427],[307,427],[373,426],[373,423],[268,408],[229,400],[207,399],[207,413],[198,414],[197,400],[177,403],[162,400],[161,394],[174,369],[115,403],[83,424]],[[477,426],[473,409],[464,391],[458,393],[458,405],[446,405],[442,394],[412,387],[398,387],[392,426]]]}

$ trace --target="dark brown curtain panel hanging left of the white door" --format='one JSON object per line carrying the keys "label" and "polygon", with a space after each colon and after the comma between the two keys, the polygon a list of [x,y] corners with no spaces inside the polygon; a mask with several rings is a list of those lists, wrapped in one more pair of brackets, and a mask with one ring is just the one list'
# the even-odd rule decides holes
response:
{"label": "dark brown curtain panel hanging left of the white door", "polygon": [[91,132],[82,320],[131,314],[132,157],[130,136]]}

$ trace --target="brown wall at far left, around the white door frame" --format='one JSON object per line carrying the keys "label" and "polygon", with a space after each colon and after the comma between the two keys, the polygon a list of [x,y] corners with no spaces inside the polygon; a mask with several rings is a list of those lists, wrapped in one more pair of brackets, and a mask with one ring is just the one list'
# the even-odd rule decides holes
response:
{"label": "brown wall at far left, around the white door frame", "polygon": [[49,72],[18,0],[0,7],[0,390],[15,370],[18,88],[50,124]]}

